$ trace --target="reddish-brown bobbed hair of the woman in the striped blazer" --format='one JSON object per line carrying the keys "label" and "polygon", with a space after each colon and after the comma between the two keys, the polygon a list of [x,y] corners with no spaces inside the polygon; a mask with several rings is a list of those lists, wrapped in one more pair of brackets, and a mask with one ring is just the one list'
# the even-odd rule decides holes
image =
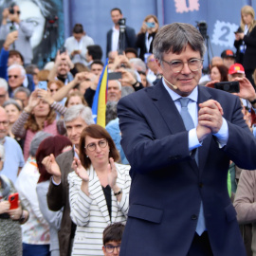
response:
{"label": "reddish-brown bobbed hair of the woman in the striped blazer", "polygon": [[91,124],[83,129],[79,144],[79,158],[85,169],[89,168],[91,165],[91,159],[86,157],[84,150],[86,136],[94,138],[105,138],[109,146],[109,157],[113,157],[115,162],[119,161],[119,151],[117,150],[115,142],[107,130],[101,127],[99,124]]}

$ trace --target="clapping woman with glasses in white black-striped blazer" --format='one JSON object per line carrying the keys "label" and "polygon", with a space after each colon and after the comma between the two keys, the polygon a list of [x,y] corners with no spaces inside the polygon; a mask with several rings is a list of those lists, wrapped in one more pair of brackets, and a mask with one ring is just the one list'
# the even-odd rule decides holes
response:
{"label": "clapping woman with glasses in white black-striped blazer", "polygon": [[110,224],[126,222],[130,166],[118,164],[119,152],[98,124],[81,135],[79,158],[68,174],[70,216],[77,225],[72,255],[103,255],[102,232]]}

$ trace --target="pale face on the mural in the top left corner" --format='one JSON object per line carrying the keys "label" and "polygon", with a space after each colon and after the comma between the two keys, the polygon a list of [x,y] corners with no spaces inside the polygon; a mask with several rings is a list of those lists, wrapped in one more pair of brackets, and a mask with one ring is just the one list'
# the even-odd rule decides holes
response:
{"label": "pale face on the mural in the top left corner", "polygon": [[34,27],[33,35],[30,38],[32,48],[38,46],[43,38],[46,19],[40,8],[30,0],[17,0],[17,5],[21,10],[21,20],[31,23]]}

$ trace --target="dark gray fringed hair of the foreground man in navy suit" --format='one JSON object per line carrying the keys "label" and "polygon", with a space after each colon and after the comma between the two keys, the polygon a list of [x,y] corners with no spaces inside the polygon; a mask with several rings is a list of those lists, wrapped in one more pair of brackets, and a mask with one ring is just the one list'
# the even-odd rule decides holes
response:
{"label": "dark gray fringed hair of the foreground man in navy suit", "polygon": [[153,53],[155,59],[161,62],[163,53],[180,54],[188,45],[192,47],[192,50],[199,51],[201,58],[204,57],[205,40],[199,30],[190,24],[172,23],[161,27],[156,33]]}

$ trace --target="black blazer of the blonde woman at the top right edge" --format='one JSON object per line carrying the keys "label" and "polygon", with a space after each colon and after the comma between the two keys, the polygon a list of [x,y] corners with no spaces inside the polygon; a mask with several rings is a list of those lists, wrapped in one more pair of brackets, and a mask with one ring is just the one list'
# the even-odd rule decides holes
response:
{"label": "black blazer of the blonde woman at the top right edge", "polygon": [[243,66],[245,70],[256,68],[256,27],[253,27],[251,32],[247,32],[244,37],[244,42],[247,46]]}

